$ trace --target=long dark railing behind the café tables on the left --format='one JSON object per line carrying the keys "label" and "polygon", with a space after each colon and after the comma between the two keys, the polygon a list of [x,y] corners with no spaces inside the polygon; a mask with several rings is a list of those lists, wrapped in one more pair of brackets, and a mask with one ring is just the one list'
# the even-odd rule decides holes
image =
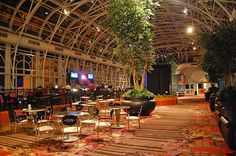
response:
{"label": "long dark railing behind the caf\u00e9 tables on the left", "polygon": [[81,96],[89,96],[91,99],[102,95],[106,98],[120,98],[123,92],[113,89],[100,89],[94,91],[80,90],[78,92],[66,91],[65,89],[2,89],[0,96],[0,111],[9,109],[27,108],[30,104],[32,108],[52,107],[55,105],[71,104],[80,100]]}

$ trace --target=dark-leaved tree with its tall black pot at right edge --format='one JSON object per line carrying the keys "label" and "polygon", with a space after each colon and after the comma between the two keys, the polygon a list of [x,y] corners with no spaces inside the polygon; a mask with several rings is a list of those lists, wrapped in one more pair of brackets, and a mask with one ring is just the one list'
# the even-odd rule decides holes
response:
{"label": "dark-leaved tree with its tall black pot at right edge", "polygon": [[236,71],[236,21],[226,21],[213,28],[212,32],[200,35],[199,43],[206,53],[200,60],[200,67],[209,80],[216,81],[224,76],[225,88],[216,94],[215,112],[219,128],[229,146],[235,147],[232,137],[236,136],[235,99],[236,87],[232,78]]}

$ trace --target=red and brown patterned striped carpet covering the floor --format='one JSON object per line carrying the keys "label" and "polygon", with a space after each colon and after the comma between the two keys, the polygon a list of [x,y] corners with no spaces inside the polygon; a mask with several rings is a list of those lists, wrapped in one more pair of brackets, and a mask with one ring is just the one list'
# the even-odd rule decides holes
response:
{"label": "red and brown patterned striped carpet covering the floor", "polygon": [[2,133],[0,156],[5,155],[233,156],[236,151],[225,144],[207,103],[180,101],[178,105],[159,106],[151,116],[143,117],[141,129],[115,129],[113,137],[104,133],[100,139],[83,135],[69,144],[52,140],[35,144],[30,133]]}

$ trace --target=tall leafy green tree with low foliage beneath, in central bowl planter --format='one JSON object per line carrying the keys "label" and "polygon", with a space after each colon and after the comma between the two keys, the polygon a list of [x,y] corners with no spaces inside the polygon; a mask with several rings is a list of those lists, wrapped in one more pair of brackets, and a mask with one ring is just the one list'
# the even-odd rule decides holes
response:
{"label": "tall leafy green tree with low foliage beneath, in central bowl planter", "polygon": [[[145,101],[144,97],[146,95],[149,97],[151,94],[144,90],[145,74],[155,63],[152,20],[157,3],[150,0],[111,0],[109,2],[110,7],[103,24],[111,30],[117,41],[114,48],[116,58],[133,77],[134,90],[125,93],[124,97],[129,96],[129,101],[137,101],[137,97],[140,97],[139,101]],[[132,103],[129,101],[126,100],[124,103],[126,105]],[[138,105],[138,102],[133,103]],[[143,107],[143,110],[145,109]],[[142,115],[147,114],[143,112]]]}

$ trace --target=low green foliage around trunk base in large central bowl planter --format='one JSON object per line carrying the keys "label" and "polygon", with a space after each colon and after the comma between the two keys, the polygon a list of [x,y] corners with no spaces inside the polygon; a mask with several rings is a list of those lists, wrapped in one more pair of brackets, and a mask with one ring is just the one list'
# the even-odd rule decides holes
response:
{"label": "low green foliage around trunk base in large central bowl planter", "polygon": [[146,89],[131,89],[123,94],[123,97],[147,97],[152,98],[155,94]]}

